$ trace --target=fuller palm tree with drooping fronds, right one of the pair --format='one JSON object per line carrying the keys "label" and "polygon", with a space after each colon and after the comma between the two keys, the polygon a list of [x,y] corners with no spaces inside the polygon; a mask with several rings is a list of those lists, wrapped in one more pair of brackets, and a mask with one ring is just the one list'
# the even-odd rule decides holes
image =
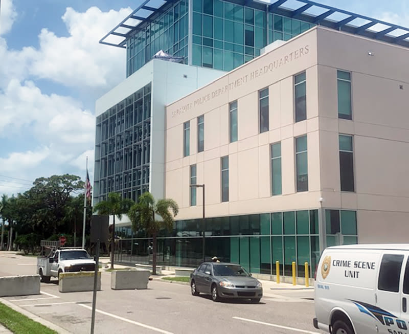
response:
{"label": "fuller palm tree with drooping fronds, right one of the pair", "polygon": [[[170,212],[172,211],[172,213]],[[179,212],[179,207],[173,199],[159,199],[155,202],[150,192],[145,192],[139,197],[137,204],[133,205],[128,216],[132,222],[132,230],[137,232],[145,230],[153,239],[153,259],[152,259],[152,274],[156,275],[156,236],[161,229],[173,228],[174,217]],[[156,220],[155,215],[158,215],[162,220]]]}

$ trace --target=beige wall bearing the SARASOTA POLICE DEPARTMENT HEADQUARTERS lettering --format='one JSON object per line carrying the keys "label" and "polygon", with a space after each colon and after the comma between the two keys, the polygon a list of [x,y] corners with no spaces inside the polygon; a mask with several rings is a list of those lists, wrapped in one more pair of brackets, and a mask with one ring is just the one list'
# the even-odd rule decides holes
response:
{"label": "beige wall bearing the SARASOTA POLICE DEPARTMENT HEADQUARTERS lettering", "polygon": [[[300,51],[301,50],[301,51]],[[293,75],[306,71],[307,120],[294,124]],[[166,196],[179,219],[201,216],[189,207],[189,165],[206,184],[206,216],[316,208],[320,198],[316,32],[311,30],[242,65],[166,110]],[[269,87],[269,128],[259,134],[258,91]],[[230,143],[229,103],[238,101],[238,141]],[[205,151],[197,153],[197,117],[205,115]],[[183,123],[190,120],[190,157],[183,157]],[[296,193],[294,137],[308,133],[310,189]],[[270,144],[282,144],[283,195],[271,196]],[[221,203],[220,158],[229,155],[229,202]],[[193,162],[194,161],[194,162]],[[289,196],[290,195],[290,196]],[[293,197],[295,196],[295,197]]]}

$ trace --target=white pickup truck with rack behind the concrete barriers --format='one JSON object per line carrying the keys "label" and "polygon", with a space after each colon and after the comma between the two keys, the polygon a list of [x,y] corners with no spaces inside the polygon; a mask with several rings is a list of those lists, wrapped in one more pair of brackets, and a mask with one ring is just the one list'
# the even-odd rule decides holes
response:
{"label": "white pickup truck with rack behind the concrete barriers", "polygon": [[66,272],[90,272],[95,270],[95,261],[84,249],[56,249],[50,256],[37,257],[37,274],[41,282],[50,282]]}

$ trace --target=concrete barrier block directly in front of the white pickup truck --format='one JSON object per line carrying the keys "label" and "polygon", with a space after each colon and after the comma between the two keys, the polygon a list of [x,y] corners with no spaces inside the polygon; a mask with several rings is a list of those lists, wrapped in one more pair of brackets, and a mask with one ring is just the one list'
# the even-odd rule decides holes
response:
{"label": "concrete barrier block directly in front of the white pickup truck", "polygon": [[[101,290],[101,272],[98,272],[97,290]],[[58,291],[94,291],[94,272],[61,273]]]}

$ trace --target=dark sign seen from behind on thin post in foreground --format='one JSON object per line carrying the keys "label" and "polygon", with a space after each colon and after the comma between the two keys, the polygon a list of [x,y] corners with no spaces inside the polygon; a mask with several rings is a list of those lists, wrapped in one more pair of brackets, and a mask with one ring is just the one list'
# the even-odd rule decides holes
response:
{"label": "dark sign seen from behind on thin post in foreground", "polygon": [[99,249],[102,242],[108,241],[109,216],[93,215],[91,217],[91,235],[90,242],[96,242],[95,253],[95,274],[94,274],[94,293],[93,293],[93,312],[91,318],[91,334],[94,334],[95,308],[97,304],[97,283],[99,269]]}

